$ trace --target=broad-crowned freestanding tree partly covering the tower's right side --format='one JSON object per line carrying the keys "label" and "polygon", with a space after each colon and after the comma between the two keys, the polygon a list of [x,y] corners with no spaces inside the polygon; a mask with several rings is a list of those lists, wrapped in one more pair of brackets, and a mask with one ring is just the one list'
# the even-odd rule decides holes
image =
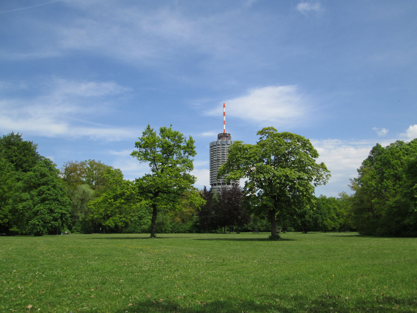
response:
{"label": "broad-crowned freestanding tree partly covering the tower's right side", "polygon": [[266,127],[256,144],[235,141],[218,177],[227,181],[246,177],[244,193],[255,213],[268,215],[271,238],[277,237],[277,216],[295,216],[300,203],[313,199],[314,187],[330,177],[319,154],[303,136]]}

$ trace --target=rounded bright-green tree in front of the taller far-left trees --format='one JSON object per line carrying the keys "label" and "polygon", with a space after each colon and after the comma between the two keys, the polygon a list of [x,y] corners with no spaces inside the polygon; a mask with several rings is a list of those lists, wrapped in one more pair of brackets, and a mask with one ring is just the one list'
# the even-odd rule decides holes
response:
{"label": "rounded bright-green tree in front of the taller far-left trees", "polygon": [[10,213],[11,230],[20,234],[58,232],[58,228],[68,222],[70,199],[49,159],[42,159],[30,172],[20,175]]}

